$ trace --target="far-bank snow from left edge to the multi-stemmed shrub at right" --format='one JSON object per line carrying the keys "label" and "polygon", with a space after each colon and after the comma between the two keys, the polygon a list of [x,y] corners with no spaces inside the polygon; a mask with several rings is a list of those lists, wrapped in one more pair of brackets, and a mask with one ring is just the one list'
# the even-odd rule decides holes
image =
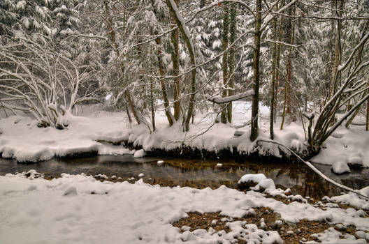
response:
{"label": "far-bank snow from left edge to the multi-stemmed shrub at right", "polygon": [[[157,130],[150,133],[146,125],[129,125],[122,112],[89,111],[82,116],[69,115],[68,128],[38,128],[36,121],[22,116],[10,116],[1,119],[0,154],[3,158],[18,161],[40,161],[52,157],[63,157],[78,153],[125,154],[131,153],[124,146],[111,146],[104,142],[120,144],[129,142],[133,146],[142,146],[144,151],[154,149],[173,150],[184,146],[215,153],[224,149],[239,153],[259,152],[261,155],[281,157],[280,148],[275,144],[249,141],[249,127],[242,129],[243,135],[234,137],[237,125],[248,121],[251,114],[245,113],[250,102],[234,102],[233,124],[214,123],[213,116],[198,114],[189,132],[183,132],[180,123],[168,127],[163,112],[156,117]],[[261,106],[261,114],[268,114],[268,109]],[[260,138],[268,139],[267,125],[261,124]],[[278,142],[303,150],[303,131],[292,123],[284,130],[276,131]],[[284,150],[282,148],[282,150]],[[138,152],[137,152],[138,153]],[[288,151],[284,151],[289,155]],[[138,156],[138,154],[137,154]],[[143,156],[143,155],[140,155]]]}

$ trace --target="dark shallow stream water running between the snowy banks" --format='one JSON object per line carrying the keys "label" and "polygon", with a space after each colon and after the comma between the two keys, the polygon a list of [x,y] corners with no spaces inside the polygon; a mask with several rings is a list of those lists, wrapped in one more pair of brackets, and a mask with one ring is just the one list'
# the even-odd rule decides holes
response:
{"label": "dark shallow stream water running between the snowy banks", "polygon": [[[157,160],[164,160],[164,165],[157,165]],[[222,167],[217,167],[221,162]],[[369,169],[352,170],[351,174],[337,176],[329,166],[315,165],[326,176],[333,178],[351,188],[360,189],[369,185]],[[36,171],[45,174],[46,178],[59,177],[61,173],[87,175],[106,174],[113,175],[126,181],[143,173],[147,183],[166,186],[190,186],[194,188],[218,188],[226,185],[237,188],[237,181],[244,174],[263,173],[272,178],[277,188],[291,188],[294,195],[320,199],[325,195],[339,195],[342,190],[321,179],[311,169],[302,164],[276,164],[273,162],[235,162],[234,160],[202,161],[182,160],[180,158],[141,158],[131,155],[103,155],[90,158],[60,159],[37,162],[34,164],[21,164],[15,160],[0,158],[0,175],[15,172]],[[115,181],[115,180],[114,180]],[[130,181],[133,182],[134,180]]]}

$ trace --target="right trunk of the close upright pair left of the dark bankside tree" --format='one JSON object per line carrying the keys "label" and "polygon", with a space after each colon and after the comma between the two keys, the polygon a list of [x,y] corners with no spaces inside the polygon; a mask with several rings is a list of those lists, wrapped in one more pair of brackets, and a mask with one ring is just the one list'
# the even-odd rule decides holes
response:
{"label": "right trunk of the close upright pair left of the dark bankside tree", "polygon": [[[231,45],[235,42],[236,40],[236,6],[234,4],[231,4],[231,10],[230,10],[230,24],[231,26],[229,27],[229,43],[231,43]],[[235,70],[235,56],[236,56],[236,51],[234,47],[231,47],[231,49],[229,50],[229,91],[228,91],[228,96],[233,96],[233,88],[234,88],[234,70]],[[232,102],[229,102],[228,106],[227,106],[227,117],[228,117],[228,122],[232,123]]]}

